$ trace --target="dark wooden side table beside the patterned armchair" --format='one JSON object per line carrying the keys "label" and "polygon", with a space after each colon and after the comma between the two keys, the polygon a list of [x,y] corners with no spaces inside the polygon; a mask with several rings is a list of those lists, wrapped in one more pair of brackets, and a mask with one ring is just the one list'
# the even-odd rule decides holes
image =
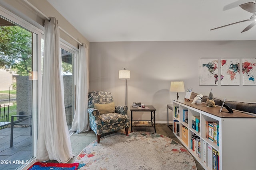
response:
{"label": "dark wooden side table beside the patterned armchair", "polygon": [[[156,108],[154,106],[145,106],[148,108],[145,109],[138,109],[138,107],[132,107],[130,106],[130,111],[131,111],[131,133],[132,133],[132,127],[154,127],[155,129],[155,133],[156,133]],[[132,120],[132,112],[136,111],[136,112],[150,112],[151,113],[151,120]],[[133,123],[133,121],[150,121],[151,125],[135,125],[135,123]]]}

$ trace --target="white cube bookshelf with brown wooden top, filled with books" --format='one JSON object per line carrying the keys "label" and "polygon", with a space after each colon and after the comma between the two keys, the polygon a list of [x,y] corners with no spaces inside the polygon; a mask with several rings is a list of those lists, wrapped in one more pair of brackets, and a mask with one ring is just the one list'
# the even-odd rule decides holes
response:
{"label": "white cube bookshelf with brown wooden top, filled with books", "polygon": [[[173,109],[173,123],[178,123],[180,128],[179,135],[174,134],[205,170],[213,170],[217,162],[216,170],[255,169],[256,115],[235,110],[231,114],[226,108],[220,112],[219,106],[206,107],[203,102],[191,104],[184,100],[173,100],[173,108],[178,108]],[[188,113],[187,121],[184,121],[184,110]],[[193,127],[194,121],[197,127]],[[216,131],[207,122],[214,124]],[[208,133],[213,137],[207,137]],[[213,154],[216,152],[218,155]]]}

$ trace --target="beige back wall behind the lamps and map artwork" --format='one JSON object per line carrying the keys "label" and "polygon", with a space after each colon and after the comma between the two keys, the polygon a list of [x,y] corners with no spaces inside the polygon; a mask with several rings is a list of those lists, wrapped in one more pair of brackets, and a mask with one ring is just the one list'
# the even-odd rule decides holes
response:
{"label": "beige back wall behind the lamps and map artwork", "polygon": [[[118,70],[125,67],[130,70],[128,106],[154,105],[156,121],[167,121],[166,105],[176,98],[170,82],[176,80],[203,95],[212,88],[214,97],[256,102],[256,86],[243,86],[242,77],[239,86],[199,86],[199,59],[255,58],[255,47],[256,41],[91,42],[90,91],[112,91],[116,105],[124,105],[125,80],[118,79]],[[179,95],[183,99],[185,92]]]}

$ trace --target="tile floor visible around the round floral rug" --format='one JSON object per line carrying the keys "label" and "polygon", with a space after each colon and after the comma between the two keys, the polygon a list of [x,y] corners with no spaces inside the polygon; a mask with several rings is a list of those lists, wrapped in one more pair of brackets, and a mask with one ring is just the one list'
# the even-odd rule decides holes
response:
{"label": "tile floor visible around the round floral rug", "polygon": [[[129,132],[130,132],[129,128]],[[134,127],[133,130],[137,131],[149,131],[154,132],[154,128],[152,127]],[[156,124],[156,133],[164,135],[166,137],[170,137],[171,139],[179,142],[177,137],[172,133],[171,129],[166,124]],[[109,134],[108,134],[109,135]],[[102,135],[106,136],[106,135]],[[84,149],[87,145],[92,143],[93,141],[97,140],[97,137],[93,131],[89,131],[86,133],[79,133],[79,134],[72,134],[70,136],[71,145],[74,159],[70,160],[70,163],[74,162],[75,158],[78,156],[78,154],[81,152],[82,149]],[[198,170],[204,170],[204,168],[196,161],[196,167]]]}

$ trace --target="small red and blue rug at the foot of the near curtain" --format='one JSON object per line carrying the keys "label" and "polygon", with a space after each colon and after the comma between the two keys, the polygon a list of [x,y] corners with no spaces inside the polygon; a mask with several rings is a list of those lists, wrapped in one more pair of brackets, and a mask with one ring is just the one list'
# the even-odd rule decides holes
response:
{"label": "small red and blue rug at the foot of the near curtain", "polygon": [[28,170],[77,170],[78,163],[63,164],[50,162],[36,162]]}

